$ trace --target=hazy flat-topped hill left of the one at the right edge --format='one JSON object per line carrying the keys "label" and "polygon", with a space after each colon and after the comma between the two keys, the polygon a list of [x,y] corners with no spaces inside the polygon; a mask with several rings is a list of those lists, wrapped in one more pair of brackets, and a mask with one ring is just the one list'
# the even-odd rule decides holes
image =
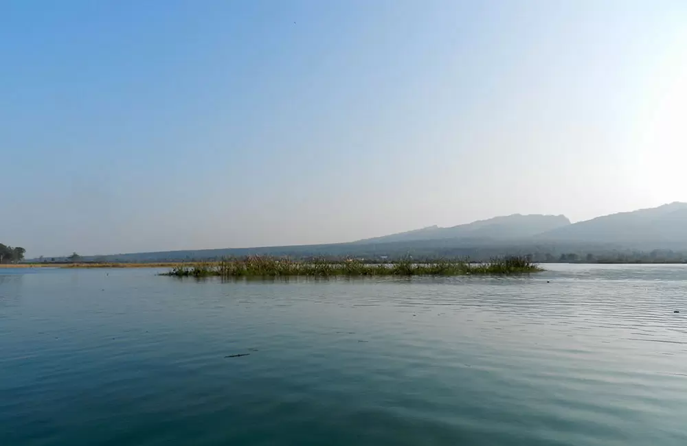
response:
{"label": "hazy flat-topped hill left of the one at the right edge", "polygon": [[412,242],[437,239],[521,239],[532,237],[556,228],[570,226],[565,215],[505,215],[502,217],[478,220],[468,224],[459,224],[449,228],[429,226],[404,233],[383,235],[371,239],[359,240],[358,244]]}

